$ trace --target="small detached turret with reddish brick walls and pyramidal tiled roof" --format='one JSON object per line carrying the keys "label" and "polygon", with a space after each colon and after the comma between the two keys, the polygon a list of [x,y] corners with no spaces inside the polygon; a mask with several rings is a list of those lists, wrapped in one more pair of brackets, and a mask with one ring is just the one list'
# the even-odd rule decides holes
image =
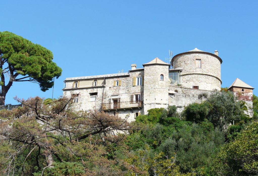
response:
{"label": "small detached turret with reddish brick walls and pyramidal tiled roof", "polygon": [[247,107],[247,114],[253,116],[253,87],[237,78],[228,90],[232,91],[238,100],[243,100]]}

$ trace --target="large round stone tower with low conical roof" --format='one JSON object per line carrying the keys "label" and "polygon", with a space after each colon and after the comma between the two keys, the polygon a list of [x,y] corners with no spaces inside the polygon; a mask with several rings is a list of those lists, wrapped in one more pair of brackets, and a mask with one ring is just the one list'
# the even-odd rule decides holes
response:
{"label": "large round stone tower with low conical roof", "polygon": [[218,55],[217,50],[213,54],[195,48],[175,55],[171,64],[174,70],[181,70],[179,74],[183,87],[220,90],[222,59]]}

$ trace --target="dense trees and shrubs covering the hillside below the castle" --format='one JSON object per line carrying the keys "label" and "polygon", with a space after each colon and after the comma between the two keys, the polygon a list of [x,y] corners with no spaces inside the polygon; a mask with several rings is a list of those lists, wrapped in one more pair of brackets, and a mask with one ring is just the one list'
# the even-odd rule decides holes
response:
{"label": "dense trees and shrubs covering the hillside below the castle", "polygon": [[253,117],[222,91],[181,113],[154,108],[132,123],[74,111],[71,99],[17,100],[24,106],[0,112],[2,175],[258,174],[256,96]]}

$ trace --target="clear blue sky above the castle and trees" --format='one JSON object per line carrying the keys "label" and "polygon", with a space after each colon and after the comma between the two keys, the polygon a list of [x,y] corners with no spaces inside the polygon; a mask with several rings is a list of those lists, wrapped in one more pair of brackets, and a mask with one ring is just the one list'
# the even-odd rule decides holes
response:
{"label": "clear blue sky above the castle and trees", "polygon": [[[197,47],[219,51],[222,87],[239,78],[257,83],[258,1],[1,1],[0,31],[10,31],[50,49],[67,77],[127,72],[142,64]],[[30,82],[14,82],[14,96],[52,97]]]}

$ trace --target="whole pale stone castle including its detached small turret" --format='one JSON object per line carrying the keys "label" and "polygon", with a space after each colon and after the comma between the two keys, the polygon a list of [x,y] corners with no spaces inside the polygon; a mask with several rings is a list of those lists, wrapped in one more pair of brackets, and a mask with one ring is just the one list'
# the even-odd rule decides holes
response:
{"label": "whole pale stone castle including its detached small turret", "polygon": [[[63,96],[74,95],[80,110],[129,115],[129,121],[151,108],[175,105],[180,112],[184,106],[200,103],[213,91],[221,90],[221,63],[218,51],[213,54],[195,48],[175,55],[170,64],[156,57],[140,69],[132,64],[127,73],[66,78]],[[249,115],[253,89],[240,79],[228,89],[246,102]]]}

